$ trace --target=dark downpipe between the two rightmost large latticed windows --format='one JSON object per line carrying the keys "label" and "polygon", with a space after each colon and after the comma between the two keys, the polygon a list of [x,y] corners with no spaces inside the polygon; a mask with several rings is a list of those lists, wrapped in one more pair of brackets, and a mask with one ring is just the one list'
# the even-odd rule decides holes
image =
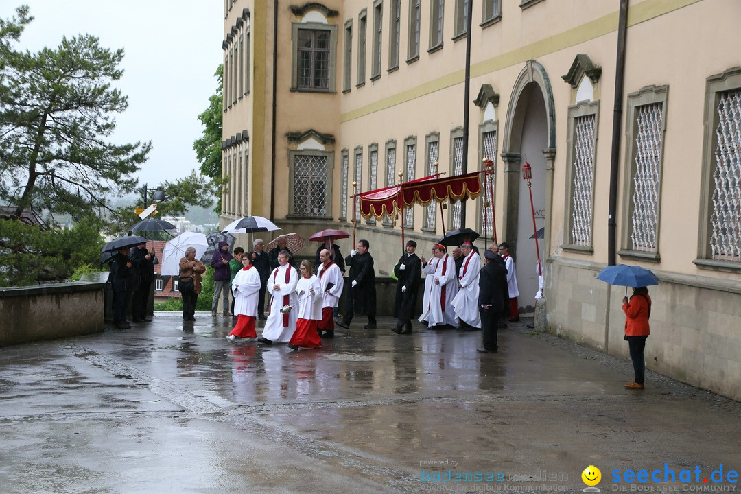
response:
{"label": "dark downpipe between the two rightmost large latticed windows", "polygon": [[612,153],[610,158],[610,202],[608,206],[607,264],[616,259],[617,184],[620,167],[620,122],[622,121],[622,93],[625,79],[625,37],[628,34],[628,0],[620,0],[617,22],[617,58],[615,61],[615,104],[612,113]]}

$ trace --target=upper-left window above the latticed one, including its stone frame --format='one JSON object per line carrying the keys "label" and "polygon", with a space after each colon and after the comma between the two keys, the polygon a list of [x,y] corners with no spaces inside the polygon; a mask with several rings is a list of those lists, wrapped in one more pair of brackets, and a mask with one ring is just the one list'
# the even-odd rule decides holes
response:
{"label": "upper-left window above the latticed one, including its stone frame", "polygon": [[294,22],[292,30],[291,89],[333,92],[337,26],[322,22]]}

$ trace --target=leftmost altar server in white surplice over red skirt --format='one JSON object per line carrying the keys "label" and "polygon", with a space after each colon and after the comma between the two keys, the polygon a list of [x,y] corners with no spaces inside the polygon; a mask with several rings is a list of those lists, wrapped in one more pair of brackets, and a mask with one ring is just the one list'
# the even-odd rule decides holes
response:
{"label": "leftmost altar server in white surplice over red skirt", "polygon": [[236,324],[227,339],[235,341],[246,338],[245,341],[255,341],[255,318],[257,316],[257,301],[260,292],[260,273],[252,264],[250,256],[242,256],[242,269],[237,271],[232,281],[234,296],[234,315]]}

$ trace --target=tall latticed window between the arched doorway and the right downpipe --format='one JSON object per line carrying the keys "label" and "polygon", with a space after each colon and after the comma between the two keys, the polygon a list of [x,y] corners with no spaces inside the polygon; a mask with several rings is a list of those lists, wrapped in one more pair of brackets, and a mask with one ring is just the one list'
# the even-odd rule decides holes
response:
{"label": "tall latticed window between the arched doorway and the right downpipe", "polygon": [[598,101],[582,101],[568,110],[566,250],[592,250],[598,110]]}

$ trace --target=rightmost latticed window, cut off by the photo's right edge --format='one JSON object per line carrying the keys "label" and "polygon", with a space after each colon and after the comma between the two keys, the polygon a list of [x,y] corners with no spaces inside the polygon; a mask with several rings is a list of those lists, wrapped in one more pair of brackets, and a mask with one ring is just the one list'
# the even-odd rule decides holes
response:
{"label": "rightmost latticed window, cut off by the photo's right edge", "polygon": [[711,258],[741,262],[741,90],[720,93],[712,174]]}

